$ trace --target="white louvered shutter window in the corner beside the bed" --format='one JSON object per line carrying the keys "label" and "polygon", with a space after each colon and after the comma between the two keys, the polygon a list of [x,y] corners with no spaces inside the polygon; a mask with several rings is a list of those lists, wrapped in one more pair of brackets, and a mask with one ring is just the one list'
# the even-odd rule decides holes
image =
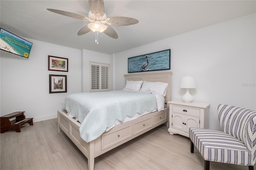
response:
{"label": "white louvered shutter window in the corner beside the bed", "polygon": [[108,64],[90,63],[91,92],[108,91]]}

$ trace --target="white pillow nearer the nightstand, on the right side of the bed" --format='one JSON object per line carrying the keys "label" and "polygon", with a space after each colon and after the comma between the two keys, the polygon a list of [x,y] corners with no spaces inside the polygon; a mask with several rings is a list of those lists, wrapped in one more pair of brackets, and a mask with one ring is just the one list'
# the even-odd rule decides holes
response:
{"label": "white pillow nearer the nightstand, on the right side of the bed", "polygon": [[168,83],[143,81],[140,91],[151,91],[166,96]]}

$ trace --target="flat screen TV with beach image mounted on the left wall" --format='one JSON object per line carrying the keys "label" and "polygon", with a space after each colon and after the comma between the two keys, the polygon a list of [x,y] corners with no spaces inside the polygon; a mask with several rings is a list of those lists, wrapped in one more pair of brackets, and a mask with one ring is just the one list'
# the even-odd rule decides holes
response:
{"label": "flat screen TV with beach image mounted on the left wall", "polygon": [[0,28],[0,49],[28,58],[32,43]]}

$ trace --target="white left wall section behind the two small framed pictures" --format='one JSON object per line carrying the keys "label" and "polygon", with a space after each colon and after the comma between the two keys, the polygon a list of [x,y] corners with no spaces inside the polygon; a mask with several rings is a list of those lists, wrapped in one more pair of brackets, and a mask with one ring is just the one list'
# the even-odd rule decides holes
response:
{"label": "white left wall section behind the two small framed pictures", "polygon": [[[81,50],[26,39],[28,59],[0,51],[1,113],[25,111],[34,122],[57,117],[68,94],[81,92]],[[68,72],[48,71],[48,55],[68,58]],[[67,93],[49,94],[49,74],[67,75]]]}

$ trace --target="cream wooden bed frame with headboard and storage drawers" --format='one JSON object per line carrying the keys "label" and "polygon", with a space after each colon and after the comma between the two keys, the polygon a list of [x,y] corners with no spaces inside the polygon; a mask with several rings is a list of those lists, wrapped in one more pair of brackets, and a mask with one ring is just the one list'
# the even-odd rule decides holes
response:
{"label": "cream wooden bed frame with headboard and storage drawers", "polygon": [[[171,75],[172,72],[162,73],[143,73],[124,75],[125,81],[146,80],[152,82],[168,83],[165,102],[171,99]],[[68,117],[65,110],[58,110],[58,132],[62,129],[66,135],[74,142],[81,152],[88,158],[88,169],[94,169],[94,158],[108,152],[109,150],[128,142],[129,140],[140,136],[141,134],[151,130],[168,121],[169,108],[164,111],[156,111],[142,117],[138,117],[132,121],[121,123],[103,133],[97,139],[87,143],[80,137],[79,128],[81,124],[74,119]]]}

